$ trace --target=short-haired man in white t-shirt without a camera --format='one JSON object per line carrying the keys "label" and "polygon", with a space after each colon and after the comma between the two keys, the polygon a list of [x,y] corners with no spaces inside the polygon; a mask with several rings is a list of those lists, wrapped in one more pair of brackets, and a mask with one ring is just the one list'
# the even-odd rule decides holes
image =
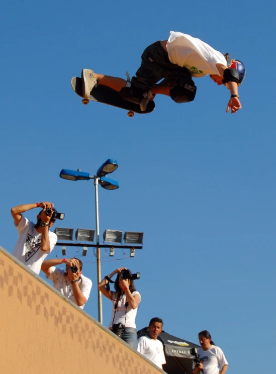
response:
{"label": "short-haired man in white t-shirt without a camera", "polygon": [[163,369],[163,365],[166,363],[163,344],[157,339],[162,329],[163,321],[161,318],[152,318],[148,326],[148,335],[141,336],[138,339],[137,348],[139,353],[160,367],[160,369]]}

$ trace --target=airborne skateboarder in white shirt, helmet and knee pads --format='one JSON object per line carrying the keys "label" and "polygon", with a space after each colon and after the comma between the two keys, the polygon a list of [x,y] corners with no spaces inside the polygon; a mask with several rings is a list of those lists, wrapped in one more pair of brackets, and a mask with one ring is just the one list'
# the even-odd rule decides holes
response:
{"label": "airborne skateboarder in white shirt, helmet and knee pads", "polygon": [[189,103],[195,99],[197,91],[192,77],[208,74],[215,83],[230,89],[226,112],[231,109],[231,113],[236,113],[241,109],[238,86],[245,76],[243,63],[230,59],[228,54],[223,55],[200,39],[171,31],[168,40],[159,40],[144,50],[141,66],[131,81],[83,69],[83,97],[88,98],[93,87],[102,84],[143,108],[157,93],[170,96],[179,104]]}

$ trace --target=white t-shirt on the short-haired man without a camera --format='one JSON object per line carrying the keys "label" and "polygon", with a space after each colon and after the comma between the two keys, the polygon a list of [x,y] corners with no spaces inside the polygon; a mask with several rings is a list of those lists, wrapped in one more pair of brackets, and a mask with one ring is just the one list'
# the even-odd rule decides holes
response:
{"label": "white t-shirt on the short-haired man without a camera", "polygon": [[155,363],[160,369],[166,363],[163,344],[158,339],[154,340],[149,336],[141,336],[138,339],[137,351]]}

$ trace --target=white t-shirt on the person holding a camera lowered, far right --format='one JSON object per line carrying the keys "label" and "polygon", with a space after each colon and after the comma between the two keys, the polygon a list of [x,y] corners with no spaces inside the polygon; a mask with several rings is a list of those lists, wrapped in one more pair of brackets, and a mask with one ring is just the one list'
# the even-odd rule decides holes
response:
{"label": "white t-shirt on the person holding a camera lowered, far right", "polygon": [[[216,345],[212,345],[206,351],[200,348],[198,354],[203,363],[204,374],[219,374],[220,366],[228,365],[222,349]],[[193,363],[193,368],[195,368],[195,363]]]}

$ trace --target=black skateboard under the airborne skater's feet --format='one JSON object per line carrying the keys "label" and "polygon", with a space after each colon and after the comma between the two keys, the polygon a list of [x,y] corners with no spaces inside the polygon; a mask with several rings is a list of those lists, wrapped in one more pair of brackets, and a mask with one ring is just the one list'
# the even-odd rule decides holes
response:
{"label": "black skateboard under the airborne skater's feet", "polygon": [[[75,93],[83,98],[82,96],[82,80],[81,78],[74,76],[71,79],[71,86]],[[133,117],[134,113],[138,114],[147,114],[154,110],[155,103],[154,101],[149,101],[148,105],[146,107],[146,110],[144,112],[141,111],[139,104],[134,104],[131,102],[128,102],[127,100],[124,100],[121,98],[120,93],[115,91],[114,89],[98,84],[93,88],[93,90],[90,92],[90,96],[88,99],[82,100],[82,104],[86,105],[89,103],[89,100],[111,105],[113,107],[125,109],[128,111],[128,117]]]}

